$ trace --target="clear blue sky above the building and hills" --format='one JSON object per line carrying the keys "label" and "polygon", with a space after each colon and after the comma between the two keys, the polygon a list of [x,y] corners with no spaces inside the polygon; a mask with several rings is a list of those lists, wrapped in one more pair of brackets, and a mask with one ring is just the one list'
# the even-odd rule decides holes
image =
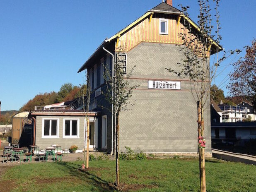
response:
{"label": "clear blue sky above the building and hills", "polygon": [[[58,91],[67,82],[82,84],[84,73],[77,74],[77,70],[104,38],[111,37],[160,2],[1,0],[1,110],[17,110],[36,94]],[[179,8],[178,4],[190,6],[190,17],[197,21],[197,0],[173,0],[174,7]],[[256,1],[222,0],[219,10],[223,47],[229,50],[250,45],[256,38]],[[216,84],[232,67],[222,69],[225,70],[217,77]],[[225,86],[222,89],[227,94]]]}

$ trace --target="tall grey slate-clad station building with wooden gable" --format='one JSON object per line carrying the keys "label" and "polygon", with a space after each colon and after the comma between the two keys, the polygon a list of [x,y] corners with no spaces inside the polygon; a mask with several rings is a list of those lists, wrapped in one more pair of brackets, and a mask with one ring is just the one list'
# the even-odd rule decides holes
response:
{"label": "tall grey slate-clad station building with wooden gable", "polygon": [[[123,57],[126,71],[136,65],[129,80],[140,87],[130,98],[135,105],[120,114],[120,150],[129,146],[148,153],[197,153],[197,106],[190,92],[189,79],[176,77],[165,70],[166,67],[178,70],[177,63],[184,58],[176,46],[182,44],[178,34],[186,33],[182,29],[183,18],[197,31],[197,25],[172,7],[171,1],[162,2],[111,38],[106,38],[78,70],[87,70],[89,74],[90,110],[101,113],[96,117],[98,127],[94,129],[97,130],[94,133],[96,149],[112,152],[114,148],[114,118],[108,110],[111,105],[102,94],[106,91],[103,73],[106,66],[112,74],[114,58]],[[210,53],[214,54],[217,44],[212,42]],[[126,45],[122,55],[118,50],[121,45]],[[166,83],[176,86],[154,86]],[[210,98],[207,103],[210,105]],[[204,121],[205,151],[211,152],[210,108],[205,111]]]}

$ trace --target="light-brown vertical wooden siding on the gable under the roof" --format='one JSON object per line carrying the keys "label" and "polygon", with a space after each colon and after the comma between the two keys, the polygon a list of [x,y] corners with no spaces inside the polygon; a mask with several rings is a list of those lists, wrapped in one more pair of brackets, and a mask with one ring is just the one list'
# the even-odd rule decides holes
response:
{"label": "light-brown vertical wooden siding on the gable under the roof", "polygon": [[[181,29],[184,26],[181,22],[177,25],[177,17],[178,15],[154,13],[151,22],[149,22],[150,17],[145,18],[121,35],[116,51],[119,46],[125,45],[127,52],[140,42],[182,44],[179,34],[184,32]],[[159,34],[159,18],[169,19],[168,35]]]}

